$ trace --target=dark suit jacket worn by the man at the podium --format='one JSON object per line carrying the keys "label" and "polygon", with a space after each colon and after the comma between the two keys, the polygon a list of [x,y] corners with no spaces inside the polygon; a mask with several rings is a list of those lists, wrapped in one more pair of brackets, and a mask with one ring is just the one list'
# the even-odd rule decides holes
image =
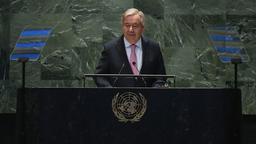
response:
{"label": "dark suit jacket worn by the man at the podium", "polygon": [[[133,75],[127,54],[125,51],[124,35],[107,42],[96,67],[95,74],[118,74],[122,69],[122,75]],[[166,75],[163,56],[159,43],[142,36],[142,67],[141,75]],[[93,78],[98,87],[113,87],[116,78]],[[162,86],[166,83],[166,78],[144,78],[147,87]],[[145,87],[142,78],[118,78],[114,87]]]}

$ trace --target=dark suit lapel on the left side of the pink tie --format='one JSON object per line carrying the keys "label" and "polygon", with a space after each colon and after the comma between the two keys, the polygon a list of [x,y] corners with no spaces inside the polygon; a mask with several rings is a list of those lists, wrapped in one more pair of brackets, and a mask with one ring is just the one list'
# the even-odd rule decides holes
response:
{"label": "dark suit lapel on the left side of the pink tie", "polygon": [[116,49],[117,49],[122,61],[126,62],[126,65],[125,65],[126,71],[128,71],[128,73],[130,75],[133,75],[129,60],[127,58],[126,50],[125,50],[124,35],[122,35],[117,42],[118,42],[118,44],[116,45]]}

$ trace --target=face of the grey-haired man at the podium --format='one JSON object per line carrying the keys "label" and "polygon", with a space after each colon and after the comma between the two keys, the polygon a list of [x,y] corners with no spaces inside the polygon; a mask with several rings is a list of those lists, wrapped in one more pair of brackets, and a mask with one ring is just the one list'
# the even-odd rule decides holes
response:
{"label": "face of the grey-haired man at the podium", "polygon": [[144,31],[144,25],[141,23],[141,16],[130,15],[124,20],[123,32],[125,39],[131,44],[135,44],[141,38],[141,34]]}

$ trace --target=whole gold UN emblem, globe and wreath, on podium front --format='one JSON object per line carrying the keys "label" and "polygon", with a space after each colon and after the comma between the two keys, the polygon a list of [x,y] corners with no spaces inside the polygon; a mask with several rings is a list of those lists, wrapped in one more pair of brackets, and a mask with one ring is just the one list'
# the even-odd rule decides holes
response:
{"label": "whole gold UN emblem, globe and wreath, on podium front", "polygon": [[140,121],[146,112],[147,100],[139,93],[126,92],[119,96],[119,93],[112,99],[112,110],[121,122]]}

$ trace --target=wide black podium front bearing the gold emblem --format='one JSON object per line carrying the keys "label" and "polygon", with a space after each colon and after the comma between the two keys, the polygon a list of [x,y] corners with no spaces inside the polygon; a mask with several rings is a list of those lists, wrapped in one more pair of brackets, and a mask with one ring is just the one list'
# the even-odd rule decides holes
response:
{"label": "wide black podium front bearing the gold emblem", "polygon": [[[144,113],[138,121],[120,121],[121,112],[114,113],[113,108],[120,110],[122,107],[114,104],[115,97],[125,93],[144,97]],[[18,89],[18,143],[23,108],[19,99],[22,96],[22,89]],[[240,89],[25,89],[25,140],[29,144],[236,144],[242,142],[241,117]]]}

